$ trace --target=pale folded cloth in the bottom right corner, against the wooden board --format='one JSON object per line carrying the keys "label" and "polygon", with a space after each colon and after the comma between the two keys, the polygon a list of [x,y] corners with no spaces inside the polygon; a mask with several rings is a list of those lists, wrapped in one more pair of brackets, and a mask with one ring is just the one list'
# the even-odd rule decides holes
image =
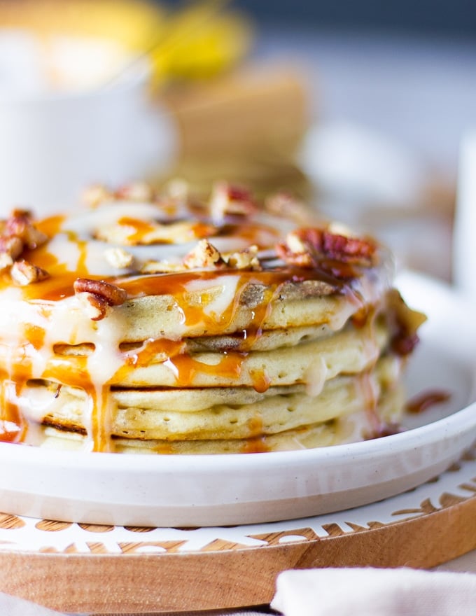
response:
{"label": "pale folded cloth in the bottom right corner, against the wooden board", "polygon": [[468,616],[476,575],[409,568],[281,573],[271,606],[284,616]]}

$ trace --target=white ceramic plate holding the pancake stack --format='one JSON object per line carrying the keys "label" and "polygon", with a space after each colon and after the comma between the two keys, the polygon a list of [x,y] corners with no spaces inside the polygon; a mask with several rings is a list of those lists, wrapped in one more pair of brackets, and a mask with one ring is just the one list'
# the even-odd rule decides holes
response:
{"label": "white ceramic plate holding the pancake stack", "polygon": [[451,400],[377,440],[269,454],[134,456],[0,444],[3,512],[95,524],[221,526],[356,507],[442,472],[476,438],[476,325],[451,288],[417,274],[398,281],[428,314],[409,393]]}

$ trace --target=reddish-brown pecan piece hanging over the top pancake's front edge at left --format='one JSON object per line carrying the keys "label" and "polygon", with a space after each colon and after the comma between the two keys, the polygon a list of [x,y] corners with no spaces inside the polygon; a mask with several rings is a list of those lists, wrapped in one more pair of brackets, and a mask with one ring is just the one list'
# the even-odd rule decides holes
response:
{"label": "reddish-brown pecan piece hanging over the top pancake's front edge at left", "polygon": [[127,300],[127,291],[104,280],[77,278],[73,288],[92,321],[100,321],[109,314],[111,307]]}

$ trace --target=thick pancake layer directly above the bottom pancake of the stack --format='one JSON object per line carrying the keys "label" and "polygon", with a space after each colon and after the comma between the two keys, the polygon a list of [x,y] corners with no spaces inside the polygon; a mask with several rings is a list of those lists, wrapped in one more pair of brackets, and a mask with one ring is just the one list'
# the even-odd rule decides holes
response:
{"label": "thick pancake layer directly above the bottom pancake of the stack", "polygon": [[[264,395],[254,392],[254,398],[251,388],[135,391],[134,395],[127,390],[112,391],[115,410],[111,433],[138,440],[225,440],[324,423],[360,411],[367,403],[369,390],[377,404],[384,393],[397,386],[399,364],[396,358],[382,358],[371,372],[331,379],[316,396],[309,395],[305,386],[270,387]],[[28,405],[26,397],[30,419],[34,419],[42,402],[38,419],[45,425],[85,435],[87,397],[83,390],[62,387],[56,395],[53,384],[36,383],[23,393],[24,409]],[[201,402],[198,407],[194,397]],[[393,422],[396,419],[395,413]]]}

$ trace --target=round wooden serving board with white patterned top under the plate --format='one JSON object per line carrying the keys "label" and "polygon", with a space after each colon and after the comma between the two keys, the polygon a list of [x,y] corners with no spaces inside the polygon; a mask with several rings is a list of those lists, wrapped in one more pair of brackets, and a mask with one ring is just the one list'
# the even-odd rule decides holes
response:
{"label": "round wooden serving board with white patterned top under the plate", "polygon": [[66,612],[236,608],[269,603],[287,568],[428,568],[475,548],[471,451],[399,496],[269,524],[131,528],[0,514],[0,591]]}

